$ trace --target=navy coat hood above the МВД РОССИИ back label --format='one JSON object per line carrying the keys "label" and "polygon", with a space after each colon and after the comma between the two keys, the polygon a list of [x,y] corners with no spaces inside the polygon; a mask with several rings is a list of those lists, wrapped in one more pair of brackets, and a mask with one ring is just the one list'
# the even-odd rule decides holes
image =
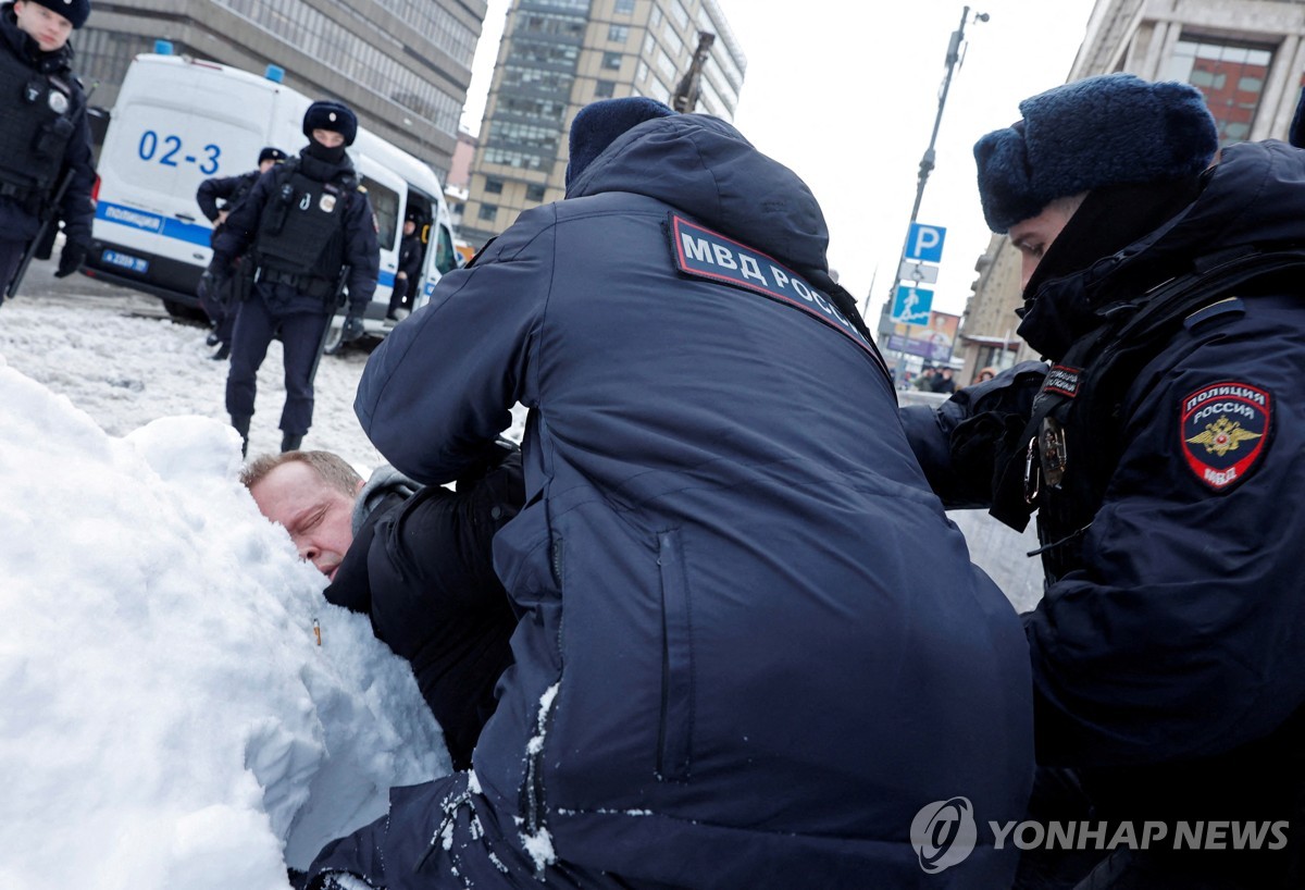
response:
{"label": "navy coat hood above the \u041c\u0412\u0414 \u0420\u041e\u0421\u0421\u0418\u0418 back label", "polygon": [[566,189],[568,198],[628,192],[669,204],[709,228],[769,253],[821,290],[829,230],[816,196],[729,124],[673,115],[626,130]]}

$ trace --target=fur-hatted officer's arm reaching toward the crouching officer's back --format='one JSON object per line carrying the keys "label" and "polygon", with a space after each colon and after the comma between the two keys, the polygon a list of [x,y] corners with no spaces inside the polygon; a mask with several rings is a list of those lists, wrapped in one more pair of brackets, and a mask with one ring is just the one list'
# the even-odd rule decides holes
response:
{"label": "fur-hatted officer's arm reaching toward the crouching officer's back", "polygon": [[987,508],[1018,442],[1047,365],[1022,361],[993,380],[958,390],[942,405],[899,410],[911,450],[949,509]]}

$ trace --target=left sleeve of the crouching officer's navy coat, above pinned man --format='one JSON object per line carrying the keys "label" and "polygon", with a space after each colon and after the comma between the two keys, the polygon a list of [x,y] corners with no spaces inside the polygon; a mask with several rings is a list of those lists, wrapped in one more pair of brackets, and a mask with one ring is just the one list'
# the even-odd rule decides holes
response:
{"label": "left sleeve of the crouching officer's navy coat, above pinned man", "polygon": [[354,410],[376,448],[425,484],[450,482],[530,406],[539,326],[553,278],[555,210],[538,207],[377,347]]}

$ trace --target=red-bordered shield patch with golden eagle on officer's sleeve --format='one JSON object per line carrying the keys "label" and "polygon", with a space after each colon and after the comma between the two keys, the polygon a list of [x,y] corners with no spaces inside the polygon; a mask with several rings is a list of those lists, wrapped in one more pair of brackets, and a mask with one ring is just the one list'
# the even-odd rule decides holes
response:
{"label": "red-bordered shield patch with golden eagle on officer's sleeve", "polygon": [[1182,399],[1178,441],[1188,467],[1212,491],[1232,488],[1268,449],[1272,399],[1259,386],[1225,380]]}

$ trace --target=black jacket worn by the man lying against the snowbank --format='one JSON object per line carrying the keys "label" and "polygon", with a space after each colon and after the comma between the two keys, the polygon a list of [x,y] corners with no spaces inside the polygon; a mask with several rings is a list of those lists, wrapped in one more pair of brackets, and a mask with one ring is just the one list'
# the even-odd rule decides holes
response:
{"label": "black jacket worn by the man lying against the snowbank", "polygon": [[457,492],[381,482],[367,492],[371,509],[326,599],[369,615],[376,637],[411,663],[453,766],[463,770],[512,663],[517,616],[491,544],[525,500],[521,453],[463,476]]}

